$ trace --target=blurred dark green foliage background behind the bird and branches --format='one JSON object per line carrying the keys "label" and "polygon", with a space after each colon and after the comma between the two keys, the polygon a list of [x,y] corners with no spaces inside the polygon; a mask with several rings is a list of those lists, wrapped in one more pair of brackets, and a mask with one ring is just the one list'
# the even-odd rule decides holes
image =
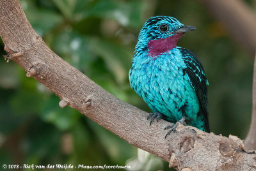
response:
{"label": "blurred dark green foliage background behind the bird and branches", "polygon": [[[200,1],[20,0],[29,22],[58,56],[120,100],[147,112],[128,72],[145,20],[170,15],[197,29],[189,48],[209,79],[209,123],[217,135],[244,139],[252,108],[253,53]],[[255,1],[243,1],[255,12]],[[3,41],[0,40],[0,56]],[[131,165],[168,170],[168,163],[128,144],[60,99],[19,65],[0,58],[0,164]]]}

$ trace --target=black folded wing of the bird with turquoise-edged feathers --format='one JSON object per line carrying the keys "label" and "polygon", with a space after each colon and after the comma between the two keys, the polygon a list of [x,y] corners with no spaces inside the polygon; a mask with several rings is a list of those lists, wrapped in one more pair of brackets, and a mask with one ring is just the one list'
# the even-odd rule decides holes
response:
{"label": "black folded wing of the bird with turquoise-edged feathers", "polygon": [[204,115],[205,131],[210,132],[208,121],[208,100],[207,100],[207,85],[208,80],[205,77],[204,67],[200,63],[199,59],[186,48],[179,48],[182,53],[182,57],[187,66],[184,69],[189,76],[190,83],[195,89],[196,96],[199,101],[199,113]]}

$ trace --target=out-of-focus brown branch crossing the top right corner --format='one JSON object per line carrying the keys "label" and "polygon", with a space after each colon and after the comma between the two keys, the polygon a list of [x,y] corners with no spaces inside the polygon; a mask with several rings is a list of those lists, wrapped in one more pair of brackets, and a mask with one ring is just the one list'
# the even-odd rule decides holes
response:
{"label": "out-of-focus brown branch crossing the top right corner", "polygon": [[250,54],[256,48],[256,14],[241,0],[200,0],[228,34],[240,43]]}

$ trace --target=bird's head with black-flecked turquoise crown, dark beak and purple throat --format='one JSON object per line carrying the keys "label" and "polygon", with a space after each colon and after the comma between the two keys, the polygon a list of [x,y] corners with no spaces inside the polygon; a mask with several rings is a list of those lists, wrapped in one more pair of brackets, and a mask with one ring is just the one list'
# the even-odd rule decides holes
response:
{"label": "bird's head with black-flecked turquoise crown, dark beak and purple throat", "polygon": [[187,31],[195,30],[195,27],[184,26],[179,20],[169,16],[156,16],[148,19],[143,25],[136,54],[148,52],[148,56],[157,57],[159,54],[175,48],[179,38]]}

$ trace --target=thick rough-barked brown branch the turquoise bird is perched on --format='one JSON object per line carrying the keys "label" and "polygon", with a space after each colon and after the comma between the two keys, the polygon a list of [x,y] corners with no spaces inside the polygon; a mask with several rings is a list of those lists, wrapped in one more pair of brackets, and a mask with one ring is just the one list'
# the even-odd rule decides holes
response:
{"label": "thick rough-barked brown branch the turquoise bird is perched on", "polygon": [[[234,136],[222,137],[179,124],[164,139],[166,121],[149,126],[147,113],[118,100],[45,45],[18,0],[0,0],[0,36],[8,59],[69,105],[129,144],[170,162],[177,170],[255,170],[255,151]],[[57,105],[57,104],[56,104]]]}

